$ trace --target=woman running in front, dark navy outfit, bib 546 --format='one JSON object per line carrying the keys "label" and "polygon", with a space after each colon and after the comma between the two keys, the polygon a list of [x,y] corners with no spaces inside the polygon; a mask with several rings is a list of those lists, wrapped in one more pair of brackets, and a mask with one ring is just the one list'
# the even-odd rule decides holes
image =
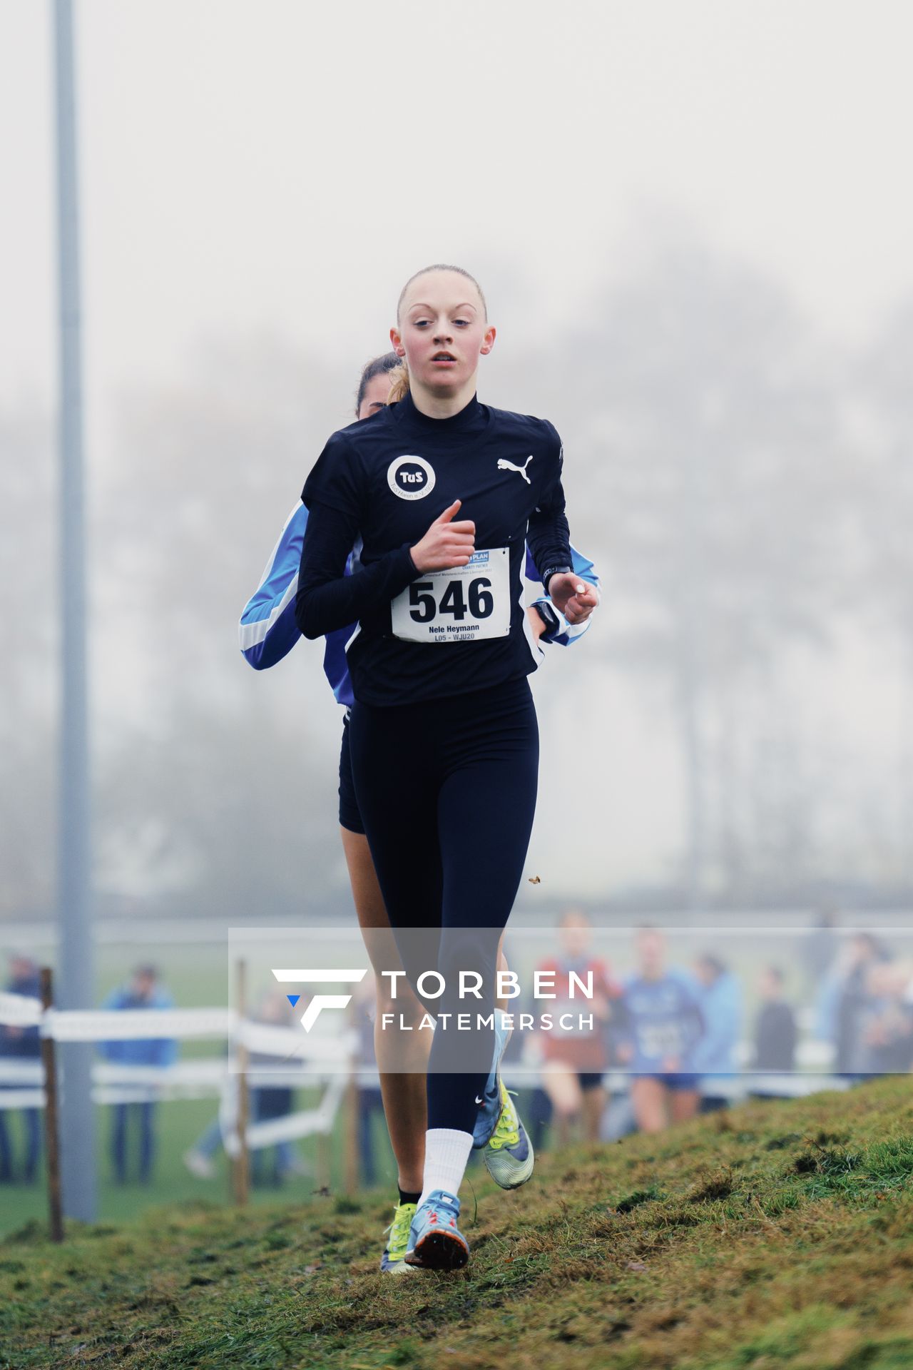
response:
{"label": "woman running in front, dark navy outfit, bib 546", "polygon": [[[475,397],[496,330],[474,278],[441,266],[412,277],[390,337],[411,389],[334,433],[305,482],[296,621],[311,638],[359,621],[346,653],[359,810],[409,981],[437,970],[443,986],[428,1003],[424,1174],[405,1259],[453,1269],[468,1259],[457,1189],[497,1074],[494,970],[535,807],[524,545],[569,622],[597,593],[571,571],[554,427]],[[346,577],[359,538],[361,570]],[[472,1014],[461,973],[480,989]]]}

